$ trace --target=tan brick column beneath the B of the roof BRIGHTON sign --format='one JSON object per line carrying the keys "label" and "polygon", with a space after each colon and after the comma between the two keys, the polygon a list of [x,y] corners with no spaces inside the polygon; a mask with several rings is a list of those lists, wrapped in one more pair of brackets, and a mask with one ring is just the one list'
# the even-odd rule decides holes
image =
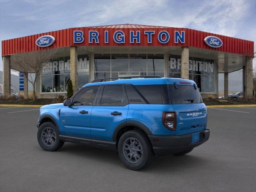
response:
{"label": "tan brick column beneath the B of the roof BRIGHTON sign", "polygon": [[70,80],[72,80],[73,93],[78,90],[77,78],[77,46],[70,47]]}

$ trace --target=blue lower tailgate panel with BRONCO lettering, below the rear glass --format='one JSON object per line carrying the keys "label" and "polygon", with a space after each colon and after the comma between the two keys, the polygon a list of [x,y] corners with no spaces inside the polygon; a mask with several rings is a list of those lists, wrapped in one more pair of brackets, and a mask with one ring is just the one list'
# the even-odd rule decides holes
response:
{"label": "blue lower tailgate panel with BRONCO lettering, below the rear glass", "polygon": [[203,103],[173,104],[176,111],[176,134],[190,134],[206,129],[207,110]]}

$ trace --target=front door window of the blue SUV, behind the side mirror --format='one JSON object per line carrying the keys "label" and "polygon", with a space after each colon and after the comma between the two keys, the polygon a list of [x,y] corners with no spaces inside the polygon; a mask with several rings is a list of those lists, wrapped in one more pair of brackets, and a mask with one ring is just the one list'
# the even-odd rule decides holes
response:
{"label": "front door window of the blue SUV, behind the side mirror", "polygon": [[73,99],[73,105],[93,105],[99,86],[81,90]]}

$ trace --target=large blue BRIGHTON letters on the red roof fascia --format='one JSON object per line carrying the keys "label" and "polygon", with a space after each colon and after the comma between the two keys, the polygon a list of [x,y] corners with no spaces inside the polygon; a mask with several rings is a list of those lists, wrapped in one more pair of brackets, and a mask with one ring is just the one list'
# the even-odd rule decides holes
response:
{"label": "large blue BRIGHTON letters on the red roof fascia", "polygon": [[[98,31],[89,31],[88,32],[88,42],[89,43],[99,43],[99,32]],[[143,36],[147,38],[148,43],[152,43],[153,36],[156,35],[158,38],[158,42],[162,44],[166,44],[170,40],[170,34],[167,31],[160,31],[156,34],[155,31],[144,31],[141,34],[140,31],[130,31],[129,32],[130,43],[140,43],[140,39]],[[82,43],[84,42],[84,33],[82,31],[74,31],[74,43]],[[125,43],[125,33],[122,30],[118,30],[114,32],[112,40],[118,44]],[[104,43],[108,43],[110,39],[109,31],[104,31]],[[174,43],[185,43],[185,31],[174,31]]]}

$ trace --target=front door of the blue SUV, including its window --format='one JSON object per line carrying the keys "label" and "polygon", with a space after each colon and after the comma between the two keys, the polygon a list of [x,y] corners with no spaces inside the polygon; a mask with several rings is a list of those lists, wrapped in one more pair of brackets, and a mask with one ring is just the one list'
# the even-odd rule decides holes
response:
{"label": "front door of the blue SUV, including its window", "polygon": [[82,88],[73,98],[71,106],[60,110],[60,133],[63,135],[90,138],[90,115],[96,104],[100,86]]}

